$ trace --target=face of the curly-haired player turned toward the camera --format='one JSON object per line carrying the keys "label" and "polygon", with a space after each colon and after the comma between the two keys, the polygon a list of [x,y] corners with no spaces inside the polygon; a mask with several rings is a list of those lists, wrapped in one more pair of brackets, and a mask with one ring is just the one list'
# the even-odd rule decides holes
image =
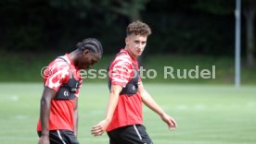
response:
{"label": "face of the curly-haired player turned toward the camera", "polygon": [[126,37],[125,43],[125,49],[132,54],[134,58],[137,58],[146,47],[147,36],[132,34]]}

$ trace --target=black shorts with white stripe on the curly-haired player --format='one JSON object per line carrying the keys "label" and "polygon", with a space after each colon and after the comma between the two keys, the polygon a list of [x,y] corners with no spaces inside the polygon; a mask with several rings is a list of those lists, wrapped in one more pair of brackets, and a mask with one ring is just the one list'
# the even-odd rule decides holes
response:
{"label": "black shorts with white stripe on the curly-haired player", "polygon": [[109,144],[153,144],[142,125],[123,126],[108,132]]}

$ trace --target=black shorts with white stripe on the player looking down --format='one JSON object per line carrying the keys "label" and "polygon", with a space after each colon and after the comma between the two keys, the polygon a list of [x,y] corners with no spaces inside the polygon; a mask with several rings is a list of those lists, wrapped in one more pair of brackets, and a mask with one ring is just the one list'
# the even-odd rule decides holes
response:
{"label": "black shorts with white stripe on the player looking down", "polygon": [[[41,137],[41,131],[38,131],[38,136]],[[79,144],[74,132],[70,130],[50,130],[50,144]]]}

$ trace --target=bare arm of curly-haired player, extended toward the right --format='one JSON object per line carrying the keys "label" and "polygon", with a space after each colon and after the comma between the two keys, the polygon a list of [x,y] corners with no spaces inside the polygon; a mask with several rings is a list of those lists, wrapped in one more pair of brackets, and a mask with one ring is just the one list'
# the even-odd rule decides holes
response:
{"label": "bare arm of curly-haired player, extended toward the right", "polygon": [[149,95],[147,90],[144,89],[143,84],[140,83],[138,85],[138,92],[142,97],[142,102],[147,105],[148,108],[153,110],[155,113],[159,114],[161,119],[169,126],[171,130],[177,127],[177,124],[173,117],[165,112],[160,108],[159,104],[154,101],[154,99]]}

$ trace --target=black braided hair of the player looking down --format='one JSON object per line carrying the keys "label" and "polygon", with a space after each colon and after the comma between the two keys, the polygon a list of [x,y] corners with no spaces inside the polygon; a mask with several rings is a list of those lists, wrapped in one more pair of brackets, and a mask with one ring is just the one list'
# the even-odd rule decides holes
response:
{"label": "black braided hair of the player looking down", "polygon": [[82,42],[78,42],[76,44],[76,47],[81,51],[89,50],[90,52],[93,52],[96,54],[101,54],[101,55],[103,54],[102,45],[95,38],[84,39]]}

